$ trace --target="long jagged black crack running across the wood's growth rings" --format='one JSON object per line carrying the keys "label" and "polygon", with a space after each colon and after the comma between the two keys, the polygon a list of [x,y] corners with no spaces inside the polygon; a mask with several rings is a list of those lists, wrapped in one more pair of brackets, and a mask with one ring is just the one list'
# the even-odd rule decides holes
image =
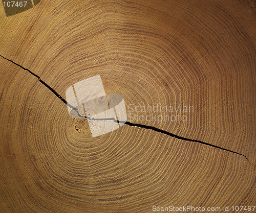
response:
{"label": "long jagged black crack running across the wood's growth rings", "polygon": [[206,143],[206,142],[204,142],[204,141],[201,141],[201,140],[195,140],[195,139],[189,139],[189,138],[181,137],[181,136],[179,136],[179,135],[176,135],[176,134],[167,132],[167,131],[162,130],[162,129],[158,129],[158,128],[156,128],[156,127],[147,126],[147,125],[143,125],[143,124],[135,124],[135,123],[127,122],[127,121],[126,121],[126,122],[124,122],[124,121],[118,121],[118,120],[116,120],[116,119],[114,119],[114,118],[110,118],[110,119],[93,119],[93,118],[88,117],[88,116],[82,116],[82,115],[79,114],[77,108],[75,108],[75,107],[73,107],[72,105],[70,105],[69,103],[67,103],[67,101],[66,101],[65,99],[63,99],[63,98],[58,94],[58,92],[56,92],[56,91],[55,91],[52,87],[50,87],[46,82],[42,81],[39,76],[37,76],[36,74],[34,74],[33,72],[31,72],[29,69],[23,67],[22,65],[19,65],[19,64],[15,63],[14,61],[5,58],[5,57],[2,56],[2,55],[0,55],[0,56],[1,56],[2,58],[4,58],[5,60],[10,61],[10,62],[12,62],[13,64],[19,66],[20,68],[26,70],[26,71],[29,72],[31,75],[33,75],[34,77],[36,77],[36,78],[39,80],[39,82],[42,83],[43,85],[45,85],[48,89],[50,89],[50,90],[55,94],[55,96],[56,96],[59,100],[61,100],[61,101],[62,101],[63,103],[65,103],[66,105],[68,105],[70,108],[74,109],[74,110],[77,112],[78,116],[81,117],[81,118],[85,118],[85,119],[88,119],[88,120],[91,120],[91,121],[111,121],[111,120],[113,120],[113,121],[116,122],[116,123],[126,124],[126,125],[129,125],[129,126],[132,126],[132,127],[140,127],[140,128],[143,128],[143,129],[150,129],[150,130],[153,130],[153,131],[156,131],[156,132],[159,132],[159,133],[162,133],[162,134],[165,134],[165,135],[168,135],[168,136],[170,136],[170,137],[174,137],[174,138],[177,138],[177,139],[180,139],[180,140],[185,140],[185,141],[189,141],[189,142],[199,143],[199,144],[203,144],[203,145],[206,145],[206,146],[209,146],[209,147],[214,147],[214,148],[217,148],[217,149],[220,149],[220,150],[224,150],[224,151],[227,151],[227,152],[231,152],[231,153],[234,153],[234,154],[238,154],[238,155],[244,156],[244,157],[248,160],[248,162],[250,163],[249,159],[248,159],[245,155],[243,155],[243,154],[241,154],[241,153],[234,152],[234,151],[232,151],[232,150],[228,150],[228,149],[225,149],[225,148],[222,148],[222,147],[218,147],[218,146],[215,146],[215,145],[212,145],[212,144],[208,144],[208,143]]}

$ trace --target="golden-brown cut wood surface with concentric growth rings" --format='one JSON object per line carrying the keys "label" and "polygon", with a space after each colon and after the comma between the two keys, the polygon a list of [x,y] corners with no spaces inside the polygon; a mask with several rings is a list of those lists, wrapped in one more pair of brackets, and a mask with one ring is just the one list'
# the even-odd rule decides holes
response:
{"label": "golden-brown cut wood surface with concentric growth rings", "polygon": [[9,17],[1,7],[0,55],[61,97],[100,75],[127,110],[193,106],[186,122],[138,123],[248,160],[129,125],[93,138],[0,57],[0,212],[255,205],[255,11],[249,0],[40,1]]}

